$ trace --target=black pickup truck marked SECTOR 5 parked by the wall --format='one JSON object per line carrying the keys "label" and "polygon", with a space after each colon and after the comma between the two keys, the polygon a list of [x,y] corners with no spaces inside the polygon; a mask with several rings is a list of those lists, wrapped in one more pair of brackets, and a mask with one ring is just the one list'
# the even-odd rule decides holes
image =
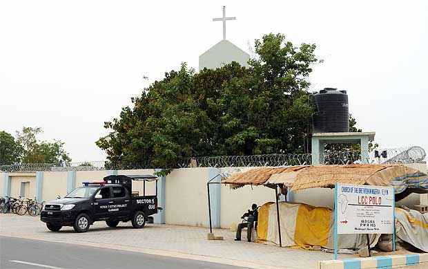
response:
{"label": "black pickup truck marked SECTOR 5 parked by the wall", "polygon": [[[143,196],[133,194],[133,180],[144,180]],[[106,221],[109,227],[116,227],[119,221],[131,221],[134,228],[143,228],[146,221],[153,222],[151,215],[162,210],[157,207],[157,185],[155,195],[145,195],[146,181],[153,180],[157,177],[113,175],[101,182],[85,182],[64,198],[46,203],[40,219],[53,232],[63,226],[86,232],[95,221]]]}

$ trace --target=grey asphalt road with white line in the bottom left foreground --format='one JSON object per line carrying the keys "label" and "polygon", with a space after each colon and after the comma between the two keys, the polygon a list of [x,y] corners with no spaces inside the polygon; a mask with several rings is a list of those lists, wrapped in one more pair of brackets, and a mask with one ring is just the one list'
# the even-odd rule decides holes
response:
{"label": "grey asphalt road with white line in the bottom left foreground", "polygon": [[[113,243],[113,242],[112,242]],[[237,268],[220,263],[0,236],[2,269]]]}

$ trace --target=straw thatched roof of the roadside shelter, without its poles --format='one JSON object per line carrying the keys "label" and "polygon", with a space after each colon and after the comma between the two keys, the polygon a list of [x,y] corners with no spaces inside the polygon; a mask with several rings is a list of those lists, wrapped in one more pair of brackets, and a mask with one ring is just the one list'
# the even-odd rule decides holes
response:
{"label": "straw thatched roof of the roadside shelter, without its poles", "polygon": [[292,190],[313,187],[333,187],[335,183],[353,185],[394,185],[418,174],[419,180],[427,175],[404,165],[316,165],[295,167],[262,167],[232,174],[222,183],[235,187],[242,185],[284,184]]}

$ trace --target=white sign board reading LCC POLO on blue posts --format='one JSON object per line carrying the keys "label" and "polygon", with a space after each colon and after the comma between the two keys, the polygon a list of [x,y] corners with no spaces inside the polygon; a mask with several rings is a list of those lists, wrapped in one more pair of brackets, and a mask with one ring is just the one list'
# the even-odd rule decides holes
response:
{"label": "white sign board reading LCC POLO on blue posts", "polygon": [[393,234],[393,187],[337,185],[338,234]]}

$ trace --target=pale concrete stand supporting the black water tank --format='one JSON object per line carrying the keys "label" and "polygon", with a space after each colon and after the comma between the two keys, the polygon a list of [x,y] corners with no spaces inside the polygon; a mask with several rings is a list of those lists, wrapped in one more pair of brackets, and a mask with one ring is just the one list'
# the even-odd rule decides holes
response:
{"label": "pale concrete stand supporting the black water tank", "polygon": [[346,133],[313,133],[312,134],[312,165],[324,164],[324,148],[326,144],[360,144],[361,161],[369,163],[369,142],[374,140],[374,131]]}

